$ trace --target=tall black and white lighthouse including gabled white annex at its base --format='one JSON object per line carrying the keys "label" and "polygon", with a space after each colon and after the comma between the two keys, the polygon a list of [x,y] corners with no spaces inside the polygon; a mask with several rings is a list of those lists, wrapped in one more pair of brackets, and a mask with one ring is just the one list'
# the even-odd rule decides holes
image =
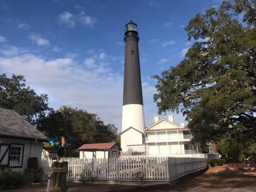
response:
{"label": "tall black and white lighthouse including gabled white annex at its base", "polygon": [[121,147],[123,153],[145,150],[145,119],[140,76],[139,34],[137,24],[130,21],[124,33],[124,90]]}

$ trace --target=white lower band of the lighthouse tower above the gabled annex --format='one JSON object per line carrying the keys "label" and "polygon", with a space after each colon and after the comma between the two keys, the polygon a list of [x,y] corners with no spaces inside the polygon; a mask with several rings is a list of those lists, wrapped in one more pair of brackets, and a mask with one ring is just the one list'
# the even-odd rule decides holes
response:
{"label": "white lower band of the lighthouse tower above the gabled annex", "polygon": [[122,132],[133,127],[140,132],[144,132],[145,120],[143,105],[129,104],[123,106]]}

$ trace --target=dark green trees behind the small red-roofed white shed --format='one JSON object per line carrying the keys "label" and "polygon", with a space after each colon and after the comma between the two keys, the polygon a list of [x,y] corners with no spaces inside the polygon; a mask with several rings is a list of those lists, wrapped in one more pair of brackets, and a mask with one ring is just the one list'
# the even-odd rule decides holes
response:
{"label": "dark green trees behind the small red-roofed white shed", "polygon": [[38,124],[38,129],[49,138],[72,139],[72,149],[86,143],[115,141],[117,132],[115,125],[105,125],[96,114],[67,106],[52,110]]}

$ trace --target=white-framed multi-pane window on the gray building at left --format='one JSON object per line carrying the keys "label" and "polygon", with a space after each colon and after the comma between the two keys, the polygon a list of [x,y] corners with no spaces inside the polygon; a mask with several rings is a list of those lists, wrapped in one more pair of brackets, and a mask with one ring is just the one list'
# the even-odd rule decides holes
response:
{"label": "white-framed multi-pane window on the gray building at left", "polygon": [[11,145],[9,166],[22,166],[23,145]]}

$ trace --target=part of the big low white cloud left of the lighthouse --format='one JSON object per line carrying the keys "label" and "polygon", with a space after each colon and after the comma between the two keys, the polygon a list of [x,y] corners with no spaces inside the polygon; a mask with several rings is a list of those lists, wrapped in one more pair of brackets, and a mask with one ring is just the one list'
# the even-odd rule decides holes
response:
{"label": "part of the big low white cloud left of the lighthouse", "polygon": [[99,67],[85,68],[71,58],[47,60],[34,54],[21,54],[0,57],[0,72],[24,75],[27,85],[39,94],[49,95],[50,107],[82,108],[121,128],[123,77],[98,62],[95,60]]}

